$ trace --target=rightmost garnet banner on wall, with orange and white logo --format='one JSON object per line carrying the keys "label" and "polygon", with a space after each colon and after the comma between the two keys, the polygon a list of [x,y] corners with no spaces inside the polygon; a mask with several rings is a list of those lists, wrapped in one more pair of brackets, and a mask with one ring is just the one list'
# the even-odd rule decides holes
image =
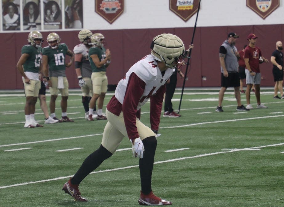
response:
{"label": "rightmost garnet banner on wall, with orange and white logo", "polygon": [[265,19],[279,6],[279,0],[246,0],[246,6]]}

